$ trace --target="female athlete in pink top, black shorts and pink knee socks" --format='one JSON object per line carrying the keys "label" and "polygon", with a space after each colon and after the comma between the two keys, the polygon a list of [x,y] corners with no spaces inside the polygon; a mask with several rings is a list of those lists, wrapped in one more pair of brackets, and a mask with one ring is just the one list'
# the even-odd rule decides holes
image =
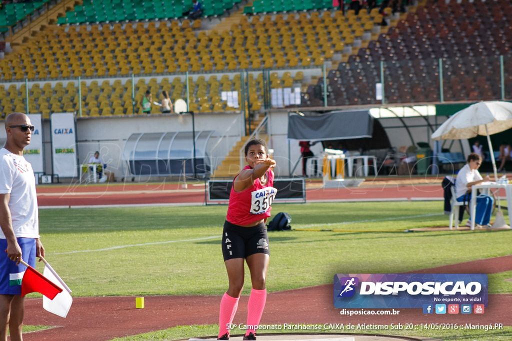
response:
{"label": "female athlete in pink top, black shorts and pink knee socks", "polygon": [[269,262],[265,223],[277,190],[272,187],[275,161],[268,157],[263,140],[245,146],[248,166],[234,177],[222,232],[222,254],[229,278],[219,314],[219,340],[229,339],[229,325],[237,312],[244,287],[244,259],[251,274],[252,290],[247,305],[247,330],[244,340],[255,340],[256,329],[267,300],[265,280]]}

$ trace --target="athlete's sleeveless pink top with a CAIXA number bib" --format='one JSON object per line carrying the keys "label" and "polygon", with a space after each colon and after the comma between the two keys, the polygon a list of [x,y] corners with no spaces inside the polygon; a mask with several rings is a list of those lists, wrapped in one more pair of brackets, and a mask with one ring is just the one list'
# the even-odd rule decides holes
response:
{"label": "athlete's sleeveless pink top with a CAIXA number bib", "polygon": [[[250,169],[245,166],[243,170]],[[246,190],[236,192],[233,186],[229,193],[229,206],[227,209],[226,220],[236,225],[247,225],[254,221],[270,217],[270,205],[272,204],[275,194],[278,192],[272,187],[274,183],[274,173],[268,170],[267,184],[263,186],[260,179],[254,180],[254,184]]]}

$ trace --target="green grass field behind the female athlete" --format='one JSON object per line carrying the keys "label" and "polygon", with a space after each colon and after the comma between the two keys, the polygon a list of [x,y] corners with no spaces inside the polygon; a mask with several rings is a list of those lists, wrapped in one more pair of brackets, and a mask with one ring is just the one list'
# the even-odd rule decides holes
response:
{"label": "green grass field behind the female athlete", "polygon": [[[273,215],[288,212],[293,228],[344,231],[270,232],[267,288],[332,283],[336,273],[393,273],[510,254],[510,231],[403,232],[446,226],[448,217],[442,209],[439,201],[274,204]],[[41,241],[46,259],[74,296],[221,295],[227,287],[220,248],[226,210],[40,210]],[[198,277],[199,273],[216,276]],[[489,276],[490,293],[512,292],[512,283],[503,281],[510,277],[510,272]],[[244,294],[249,291],[246,283]],[[211,334],[204,330],[204,335]],[[167,336],[123,340],[177,338],[169,336],[174,332],[162,333]]]}

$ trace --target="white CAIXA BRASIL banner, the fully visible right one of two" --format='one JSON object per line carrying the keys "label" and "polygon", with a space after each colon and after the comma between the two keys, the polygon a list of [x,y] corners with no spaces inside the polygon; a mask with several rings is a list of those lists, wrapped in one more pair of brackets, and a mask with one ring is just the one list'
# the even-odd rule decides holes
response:
{"label": "white CAIXA BRASIL banner, the fully visible right one of two", "polygon": [[60,177],[76,177],[76,131],[75,114],[72,112],[52,113],[53,173]]}

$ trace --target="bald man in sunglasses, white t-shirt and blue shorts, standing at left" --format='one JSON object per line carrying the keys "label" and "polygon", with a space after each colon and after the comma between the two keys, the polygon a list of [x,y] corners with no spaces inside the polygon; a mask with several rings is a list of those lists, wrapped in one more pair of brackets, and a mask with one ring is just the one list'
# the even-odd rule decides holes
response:
{"label": "bald man in sunglasses, white t-shirt and blue shorts, standing at left", "polygon": [[[34,126],[27,115],[11,113],[5,120],[7,142],[0,150],[0,340],[22,340],[25,301],[21,297],[23,259],[35,266],[44,257],[32,166],[23,157]],[[5,251],[5,252],[4,252]]]}

